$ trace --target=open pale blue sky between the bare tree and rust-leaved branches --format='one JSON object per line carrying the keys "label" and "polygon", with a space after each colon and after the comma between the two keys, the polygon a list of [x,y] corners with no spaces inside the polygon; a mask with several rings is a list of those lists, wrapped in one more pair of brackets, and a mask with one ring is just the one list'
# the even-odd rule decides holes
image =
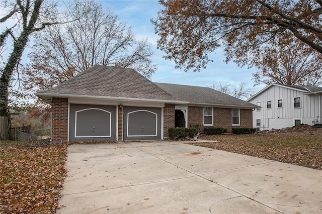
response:
{"label": "open pale blue sky between the bare tree and rust-leaved branches", "polygon": [[263,85],[253,87],[255,82],[252,80],[252,74],[256,71],[254,68],[240,68],[233,62],[226,64],[224,53],[220,49],[211,54],[213,62],[209,62],[207,68],[200,72],[185,72],[183,69],[175,69],[174,61],[162,58],[165,53],[156,48],[158,36],[154,33],[154,26],[150,19],[155,19],[157,12],[163,8],[157,0],[100,0],[100,3],[104,8],[110,8],[115,15],[126,22],[138,40],[147,38],[154,52],[153,64],[157,64],[158,67],[151,77],[153,82],[195,86],[211,86],[218,81],[230,85],[245,82],[254,93],[264,87]]}

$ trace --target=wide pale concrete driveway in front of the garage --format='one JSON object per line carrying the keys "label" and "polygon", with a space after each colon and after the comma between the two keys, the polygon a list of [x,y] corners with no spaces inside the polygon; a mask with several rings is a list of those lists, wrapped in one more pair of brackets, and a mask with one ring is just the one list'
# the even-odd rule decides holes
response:
{"label": "wide pale concrete driveway in front of the garage", "polygon": [[322,171],[179,142],[71,145],[57,213],[321,213]]}

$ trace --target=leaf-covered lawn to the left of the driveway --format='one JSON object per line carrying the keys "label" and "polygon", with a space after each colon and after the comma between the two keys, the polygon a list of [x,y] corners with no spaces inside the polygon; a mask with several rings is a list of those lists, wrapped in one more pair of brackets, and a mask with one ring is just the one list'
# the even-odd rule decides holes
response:
{"label": "leaf-covered lawn to the left of the driveway", "polygon": [[66,147],[1,142],[0,213],[55,213]]}

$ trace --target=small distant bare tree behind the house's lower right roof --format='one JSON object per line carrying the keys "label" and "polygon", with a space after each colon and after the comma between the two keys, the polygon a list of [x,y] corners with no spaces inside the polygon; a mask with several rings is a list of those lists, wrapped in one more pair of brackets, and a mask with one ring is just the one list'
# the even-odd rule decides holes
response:
{"label": "small distant bare tree behind the house's lower right roof", "polygon": [[229,94],[236,98],[249,98],[252,93],[252,89],[247,87],[247,84],[245,82],[240,82],[238,84],[224,84],[221,81],[215,81],[210,86],[212,89],[215,89],[217,91]]}

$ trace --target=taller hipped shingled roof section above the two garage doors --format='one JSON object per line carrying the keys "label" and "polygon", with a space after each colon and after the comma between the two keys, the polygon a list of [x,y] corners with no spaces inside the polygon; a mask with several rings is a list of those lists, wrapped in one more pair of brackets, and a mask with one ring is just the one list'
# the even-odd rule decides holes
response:
{"label": "taller hipped shingled roof section above the two garage doors", "polygon": [[56,97],[124,97],[152,100],[182,101],[160,89],[131,68],[94,65],[73,78],[36,95]]}

